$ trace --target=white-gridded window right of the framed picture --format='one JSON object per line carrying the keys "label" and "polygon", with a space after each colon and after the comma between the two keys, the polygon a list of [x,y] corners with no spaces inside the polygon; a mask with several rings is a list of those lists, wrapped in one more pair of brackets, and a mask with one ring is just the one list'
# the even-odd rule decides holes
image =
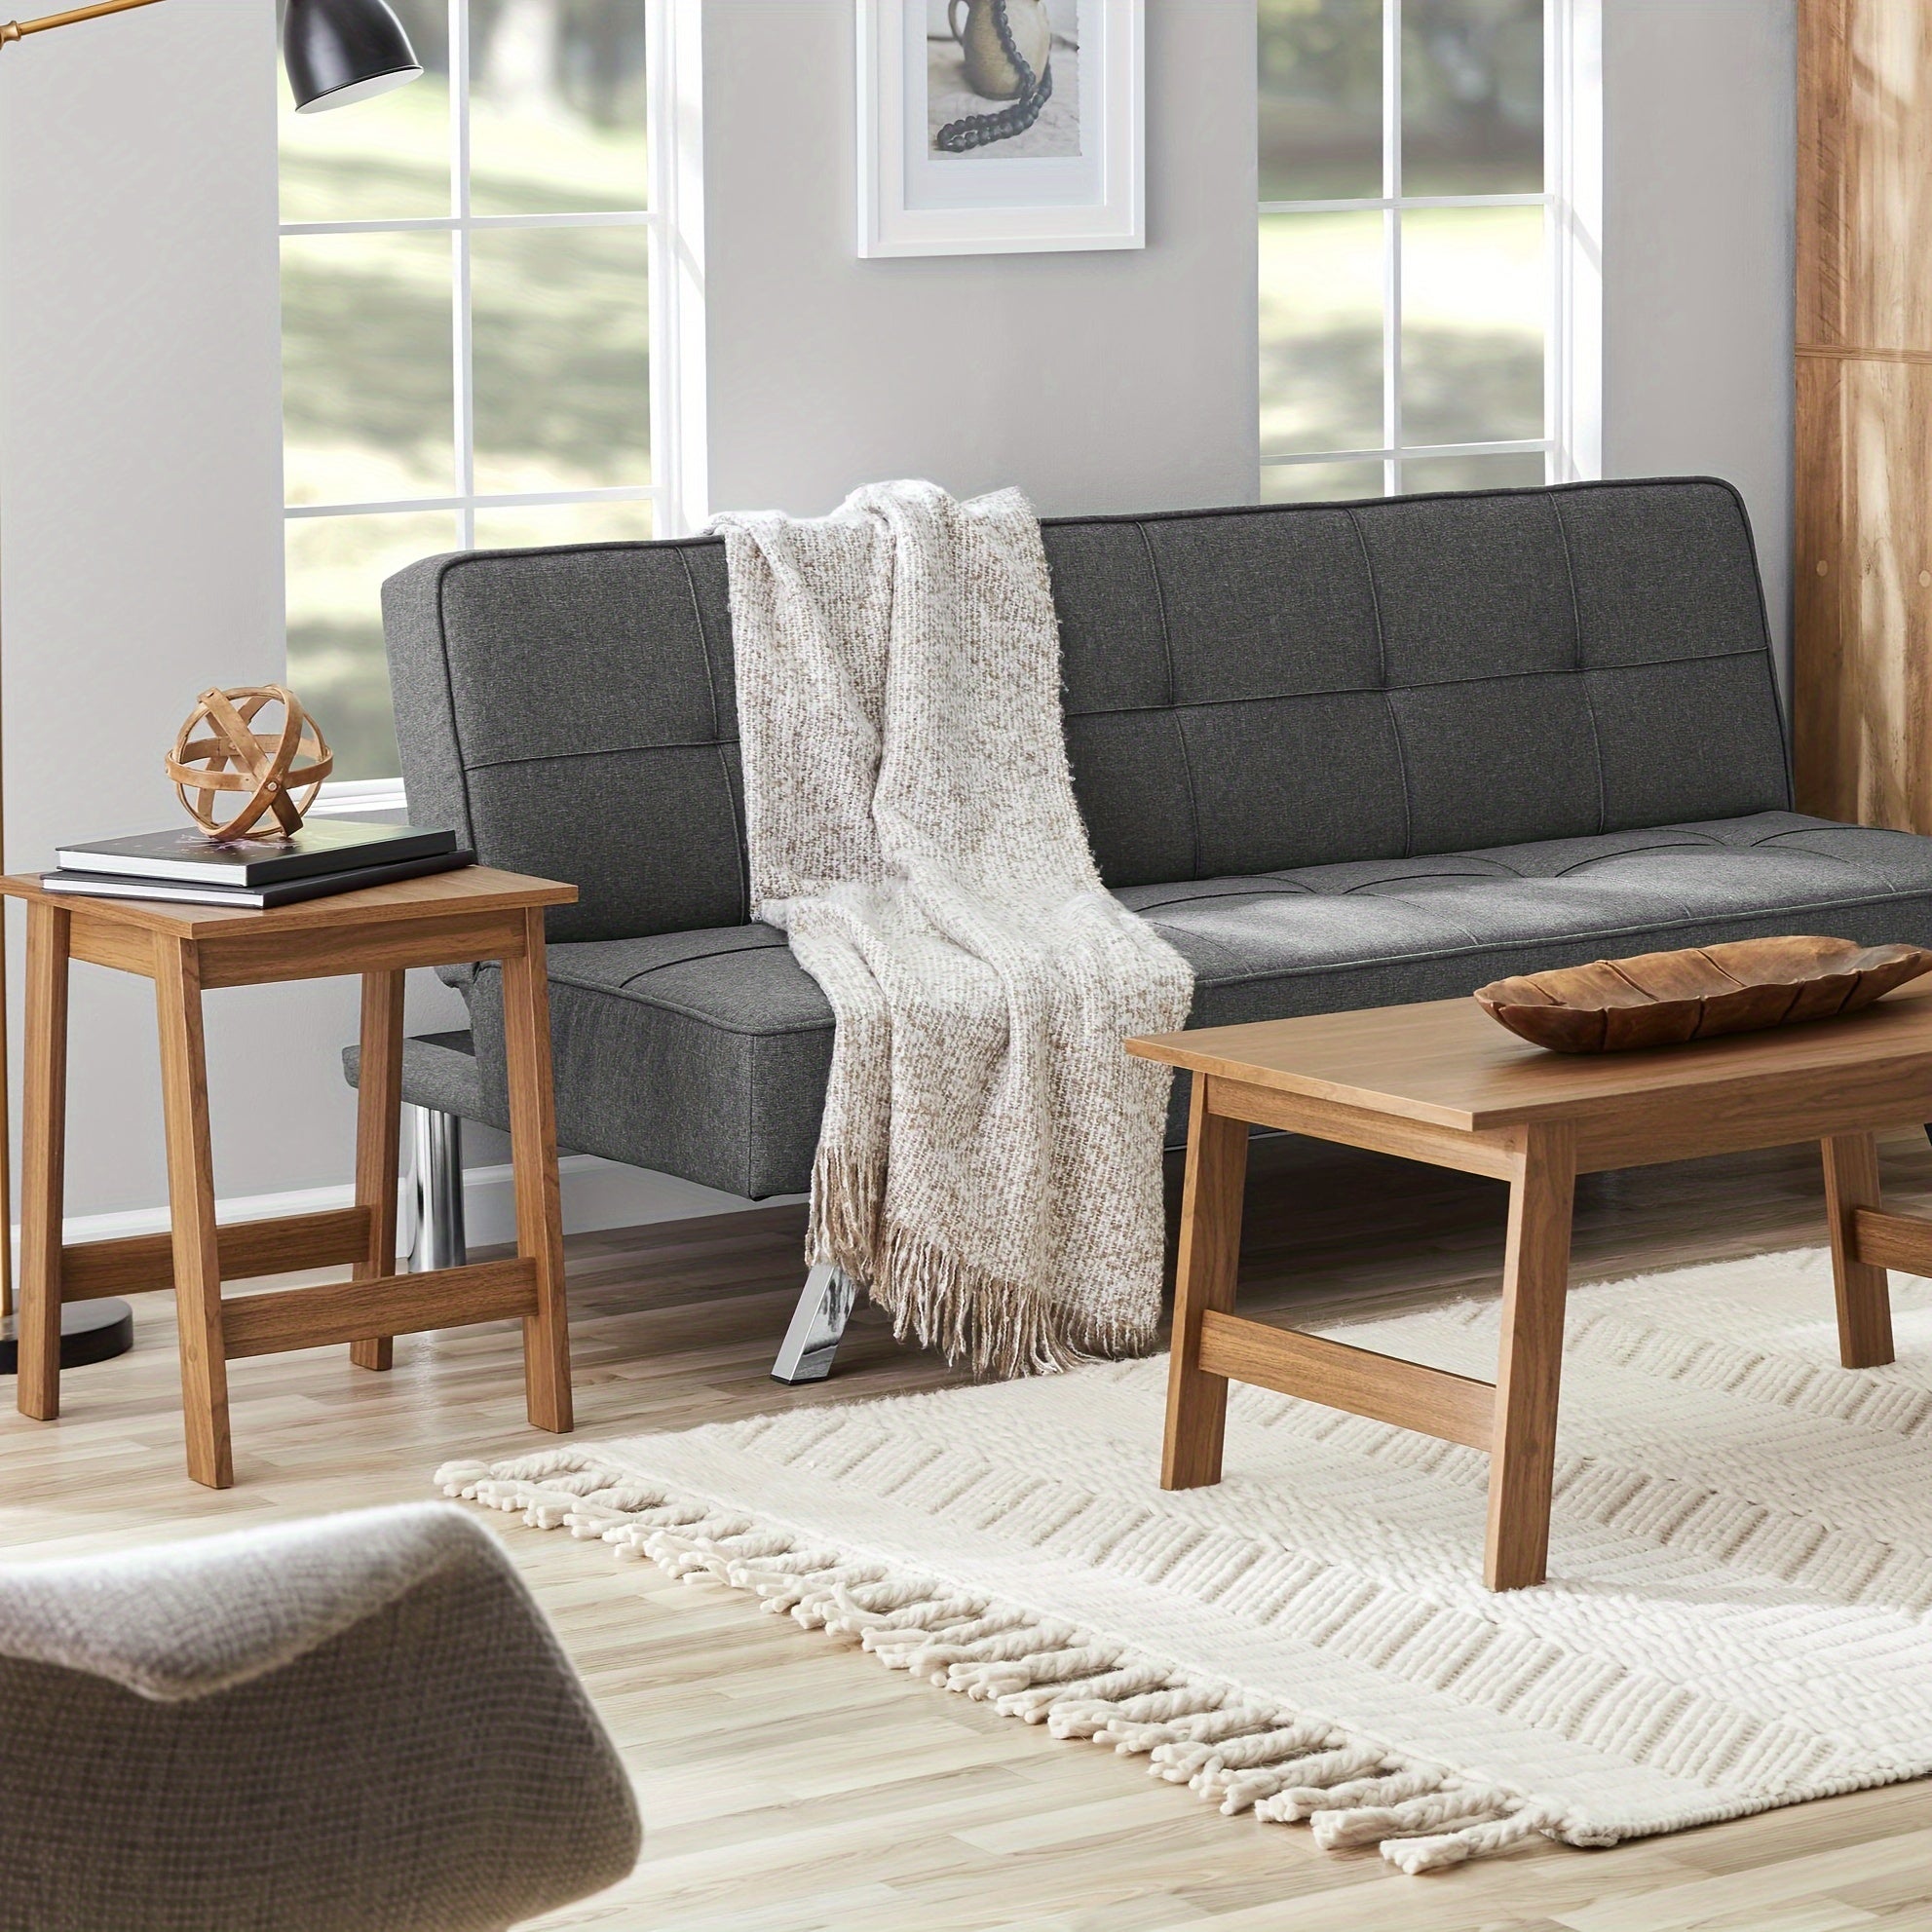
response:
{"label": "white-gridded window right of the framed picture", "polygon": [[1265,502],[1590,473],[1582,4],[1260,0]]}

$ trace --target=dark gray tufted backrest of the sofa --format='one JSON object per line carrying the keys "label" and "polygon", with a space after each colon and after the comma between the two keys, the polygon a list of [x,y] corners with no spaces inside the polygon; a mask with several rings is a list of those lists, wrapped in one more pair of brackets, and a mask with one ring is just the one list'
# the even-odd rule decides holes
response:
{"label": "dark gray tufted backrest of the sofa", "polygon": [[[1727,483],[1043,527],[1109,885],[1789,804]],[[719,539],[433,556],[383,609],[417,823],[576,881],[554,939],[746,920]]]}

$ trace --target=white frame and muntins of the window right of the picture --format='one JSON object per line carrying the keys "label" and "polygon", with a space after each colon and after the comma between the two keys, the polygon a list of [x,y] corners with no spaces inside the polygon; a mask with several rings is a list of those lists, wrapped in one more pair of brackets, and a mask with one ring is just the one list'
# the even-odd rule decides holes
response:
{"label": "white frame and muntins of the window right of the picture", "polygon": [[[1308,464],[1403,464],[1432,456],[1540,454],[1549,483],[1604,473],[1604,27],[1602,0],[1544,0],[1544,193],[1403,195],[1403,0],[1381,0],[1381,195],[1262,201],[1260,214],[1381,213],[1381,427],[1366,450],[1262,450],[1262,475]],[[1410,209],[1542,209],[1546,251],[1544,435],[1497,442],[1403,440],[1403,249]]]}

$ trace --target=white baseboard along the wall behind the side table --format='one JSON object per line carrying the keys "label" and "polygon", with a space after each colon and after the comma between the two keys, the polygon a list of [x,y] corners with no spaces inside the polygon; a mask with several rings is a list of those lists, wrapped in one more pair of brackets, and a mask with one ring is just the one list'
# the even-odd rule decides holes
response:
{"label": "white baseboard along the wall behind the side table", "polygon": [[[556,1163],[564,1192],[564,1233],[589,1235],[607,1227],[647,1227],[653,1221],[688,1221],[707,1213],[734,1213],[744,1208],[769,1208],[775,1202],[750,1202],[740,1194],[721,1194],[672,1175],[653,1175],[641,1167],[624,1167],[595,1153],[566,1153]],[[802,1196],[784,1196],[796,1200]],[[355,1190],[348,1184],[332,1188],[296,1188],[286,1194],[236,1194],[214,1204],[214,1219],[272,1221],[290,1213],[319,1213],[327,1208],[348,1208]],[[415,1242],[410,1225],[412,1190],[402,1188],[402,1213],[396,1242],[408,1252]],[[464,1219],[469,1240],[479,1248],[516,1238],[516,1202],[508,1163],[500,1167],[464,1169]],[[160,1235],[168,1227],[166,1208],[128,1208],[120,1213],[68,1215],[62,1238],[116,1240],[124,1235]],[[14,1229],[15,1252],[19,1229]]]}

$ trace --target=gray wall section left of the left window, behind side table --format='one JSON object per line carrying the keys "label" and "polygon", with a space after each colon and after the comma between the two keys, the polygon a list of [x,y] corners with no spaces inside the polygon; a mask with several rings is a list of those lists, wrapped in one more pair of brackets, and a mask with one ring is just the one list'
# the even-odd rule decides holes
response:
{"label": "gray wall section left of the left window, behind side table", "polygon": [[[0,52],[14,867],[168,823],[160,753],[195,694],[280,676],[274,85],[272,0],[170,0]],[[166,1194],[153,1012],[145,981],[75,968],[73,1211]],[[346,1179],[327,1063],[352,1026],[346,985],[211,995],[224,1190]]]}

